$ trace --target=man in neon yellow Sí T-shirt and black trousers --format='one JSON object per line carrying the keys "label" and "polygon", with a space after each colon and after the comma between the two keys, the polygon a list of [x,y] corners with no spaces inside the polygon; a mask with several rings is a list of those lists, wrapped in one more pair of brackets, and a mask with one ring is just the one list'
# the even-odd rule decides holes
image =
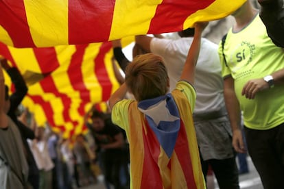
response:
{"label": "man in neon yellow S\u00ed T-shirt and black trousers", "polygon": [[233,146],[246,148],[265,189],[284,188],[284,53],[268,37],[259,10],[250,1],[233,12],[235,25],[220,42],[224,97]]}

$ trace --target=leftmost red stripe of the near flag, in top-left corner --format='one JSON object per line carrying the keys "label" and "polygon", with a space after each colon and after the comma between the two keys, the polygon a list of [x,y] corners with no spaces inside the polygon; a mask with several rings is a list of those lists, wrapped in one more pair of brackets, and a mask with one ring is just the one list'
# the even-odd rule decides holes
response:
{"label": "leftmost red stripe of the near flag, in top-left corner", "polygon": [[0,10],[0,25],[8,31],[14,47],[35,47],[23,0],[0,1]]}

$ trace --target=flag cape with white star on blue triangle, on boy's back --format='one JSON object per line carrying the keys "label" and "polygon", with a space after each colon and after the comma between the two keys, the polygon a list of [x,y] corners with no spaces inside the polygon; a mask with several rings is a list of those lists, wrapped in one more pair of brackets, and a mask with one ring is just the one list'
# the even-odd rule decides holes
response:
{"label": "flag cape with white star on blue triangle, on boy's back", "polygon": [[190,105],[171,94],[127,106],[130,188],[206,188]]}

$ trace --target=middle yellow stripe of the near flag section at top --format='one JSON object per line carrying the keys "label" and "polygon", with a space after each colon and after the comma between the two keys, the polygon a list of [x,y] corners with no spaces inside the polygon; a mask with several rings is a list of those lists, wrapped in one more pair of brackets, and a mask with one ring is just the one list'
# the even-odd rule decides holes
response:
{"label": "middle yellow stripe of the near flag section at top", "polygon": [[[147,34],[151,20],[156,13],[156,8],[162,1],[115,1],[109,40],[120,39],[123,36]],[[130,25],[132,27],[129,27]]]}

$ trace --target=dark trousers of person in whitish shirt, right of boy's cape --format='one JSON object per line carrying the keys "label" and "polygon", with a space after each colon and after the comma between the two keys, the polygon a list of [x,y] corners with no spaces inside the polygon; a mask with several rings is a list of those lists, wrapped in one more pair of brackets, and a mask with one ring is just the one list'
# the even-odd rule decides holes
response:
{"label": "dark trousers of person in whitish shirt, right of boy's cape", "polygon": [[239,189],[239,171],[235,157],[225,160],[208,160],[220,189]]}

